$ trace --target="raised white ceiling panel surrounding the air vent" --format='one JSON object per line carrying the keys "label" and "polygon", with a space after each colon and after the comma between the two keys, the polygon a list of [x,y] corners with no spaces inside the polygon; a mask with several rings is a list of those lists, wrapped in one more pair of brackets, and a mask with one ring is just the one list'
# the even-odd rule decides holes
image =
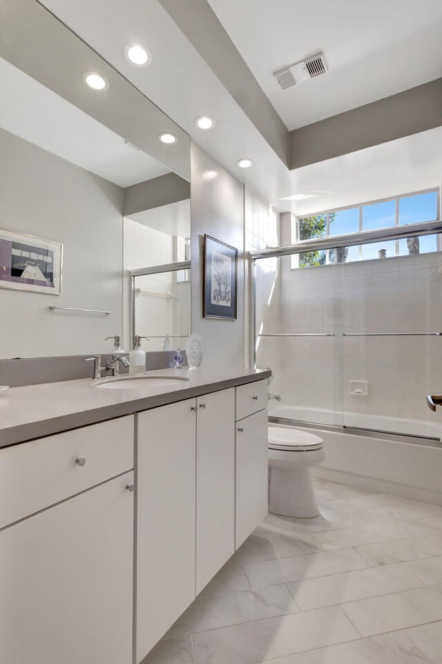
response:
{"label": "raised white ceiling panel surrounding the air vent", "polygon": [[[208,0],[289,130],[442,74],[441,0]],[[272,72],[323,51],[329,71],[281,90]]]}

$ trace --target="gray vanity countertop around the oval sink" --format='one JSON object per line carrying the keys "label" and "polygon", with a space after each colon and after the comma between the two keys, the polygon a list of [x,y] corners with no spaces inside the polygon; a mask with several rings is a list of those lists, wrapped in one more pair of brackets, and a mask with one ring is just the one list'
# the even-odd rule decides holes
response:
{"label": "gray vanity countertop around the oval sink", "polygon": [[[93,380],[66,380],[0,392],[0,447],[50,436],[86,424],[164,406],[202,394],[236,387],[271,372],[260,369],[162,369],[149,375],[182,375],[189,381],[168,387],[99,389]],[[146,381],[147,383],[148,381]]]}

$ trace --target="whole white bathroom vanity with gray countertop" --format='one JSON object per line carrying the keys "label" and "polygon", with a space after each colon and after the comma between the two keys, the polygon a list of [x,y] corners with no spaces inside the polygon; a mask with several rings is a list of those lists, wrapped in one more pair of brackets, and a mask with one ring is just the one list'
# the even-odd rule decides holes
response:
{"label": "whole white bathroom vanity with gray countertop", "polygon": [[269,371],[180,375],[1,398],[1,664],[140,663],[267,514]]}

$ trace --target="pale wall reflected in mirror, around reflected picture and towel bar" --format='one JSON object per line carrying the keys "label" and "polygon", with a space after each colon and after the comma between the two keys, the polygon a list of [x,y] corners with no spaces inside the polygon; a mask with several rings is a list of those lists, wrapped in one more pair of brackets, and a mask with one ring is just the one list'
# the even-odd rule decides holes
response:
{"label": "pale wall reflected in mirror, around reflected picture and towel bar", "polygon": [[4,130],[0,153],[1,226],[64,244],[61,295],[0,290],[0,358],[102,352],[122,333],[122,188]]}

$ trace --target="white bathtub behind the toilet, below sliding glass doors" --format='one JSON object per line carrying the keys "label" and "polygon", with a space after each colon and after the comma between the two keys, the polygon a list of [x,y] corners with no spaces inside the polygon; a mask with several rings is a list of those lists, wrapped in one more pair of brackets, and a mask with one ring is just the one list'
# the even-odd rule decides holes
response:
{"label": "white bathtub behind the toilet, below sliding glass doors", "polygon": [[[352,413],[346,414],[344,429],[334,424],[334,415],[325,409],[269,404],[271,421],[294,420],[296,429],[323,438],[325,461],[312,469],[312,476],[442,505],[442,424]],[[367,436],[349,427],[371,431]],[[407,436],[382,433],[395,429]]]}

